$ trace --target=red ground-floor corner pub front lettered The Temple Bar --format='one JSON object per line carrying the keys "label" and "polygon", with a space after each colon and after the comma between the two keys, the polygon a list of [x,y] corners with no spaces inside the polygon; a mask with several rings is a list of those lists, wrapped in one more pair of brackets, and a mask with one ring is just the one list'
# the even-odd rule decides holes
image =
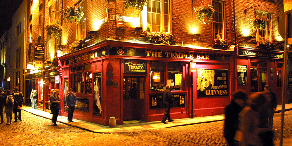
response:
{"label": "red ground-floor corner pub front lettered The Temple Bar", "polygon": [[[72,88],[77,96],[74,119],[102,125],[108,125],[109,117],[118,125],[160,121],[167,84],[175,99],[172,119],[190,118],[192,109],[194,117],[223,114],[235,90],[230,86],[236,81],[231,75],[235,56],[230,50],[107,40],[59,57],[61,93]],[[61,108],[67,116],[66,108]]]}

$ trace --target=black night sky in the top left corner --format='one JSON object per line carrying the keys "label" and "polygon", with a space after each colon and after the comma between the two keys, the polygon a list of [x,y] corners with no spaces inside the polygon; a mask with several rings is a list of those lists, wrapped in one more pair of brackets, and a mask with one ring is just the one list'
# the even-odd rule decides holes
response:
{"label": "black night sky in the top left corner", "polygon": [[[0,35],[9,30],[12,16],[17,11],[23,0],[0,0]],[[1,37],[0,36],[0,37]]]}

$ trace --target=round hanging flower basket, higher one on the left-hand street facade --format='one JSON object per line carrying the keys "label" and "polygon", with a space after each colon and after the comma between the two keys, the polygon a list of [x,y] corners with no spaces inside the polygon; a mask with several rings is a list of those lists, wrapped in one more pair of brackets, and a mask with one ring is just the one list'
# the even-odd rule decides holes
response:
{"label": "round hanging flower basket, higher one on the left-hand street facade", "polygon": [[67,8],[63,10],[63,13],[65,15],[65,18],[67,18],[70,23],[72,23],[75,20],[75,24],[77,25],[84,15],[82,9],[83,8],[79,6],[70,6],[70,7],[67,6]]}

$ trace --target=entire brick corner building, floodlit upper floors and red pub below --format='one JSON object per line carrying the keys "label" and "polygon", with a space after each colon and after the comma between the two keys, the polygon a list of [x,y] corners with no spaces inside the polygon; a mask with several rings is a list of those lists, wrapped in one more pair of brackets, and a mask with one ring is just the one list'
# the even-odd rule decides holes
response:
{"label": "entire brick corner building, floodlit upper floors and red pub below", "polygon": [[[275,72],[282,69],[283,60],[241,56],[238,50],[263,51],[252,43],[260,41],[259,35],[269,38],[275,46],[280,44],[283,39],[278,37],[276,18],[283,12],[283,1],[235,1],[235,11],[231,0],[201,3],[148,0],[144,11],[137,11],[125,9],[123,0],[28,1],[26,63],[40,59],[34,48],[43,45],[41,62],[45,65],[49,63],[45,60],[51,60],[55,64],[25,77],[26,86],[39,91],[38,108],[50,112],[52,88],[60,89],[62,101],[68,89],[73,88],[79,102],[75,119],[108,125],[109,117],[113,116],[121,125],[127,120],[161,120],[164,114],[161,95],[166,84],[171,85],[175,95],[171,109],[173,119],[190,118],[191,101],[194,117],[223,114],[231,93],[244,88],[251,94],[256,91],[252,90],[255,80],[258,85],[270,84],[279,96],[281,88],[277,88]],[[215,9],[213,21],[202,24],[194,8],[208,4]],[[260,6],[245,13],[245,8],[258,4]],[[74,5],[83,7],[84,12],[77,25],[63,20],[65,15],[59,13]],[[272,27],[253,31],[249,19],[257,14],[270,18]],[[54,22],[63,27],[62,35],[57,38],[44,30]],[[144,34],[139,32],[147,29],[147,23],[153,32],[171,32],[174,38],[171,45],[147,43]],[[226,40],[226,47],[214,40],[217,34]],[[81,40],[83,48],[77,47],[76,51],[70,46],[77,44],[77,40]],[[283,54],[281,51],[263,52]],[[191,60],[196,63],[191,66],[194,73],[190,72]],[[257,72],[257,78],[253,73],[254,62],[258,70],[263,70]],[[246,85],[235,86],[240,74],[237,65],[246,67]],[[270,73],[266,72],[271,72],[270,68],[274,70],[275,79],[270,79]],[[257,86],[257,91],[262,90],[260,87]],[[67,116],[64,102],[61,115]]]}

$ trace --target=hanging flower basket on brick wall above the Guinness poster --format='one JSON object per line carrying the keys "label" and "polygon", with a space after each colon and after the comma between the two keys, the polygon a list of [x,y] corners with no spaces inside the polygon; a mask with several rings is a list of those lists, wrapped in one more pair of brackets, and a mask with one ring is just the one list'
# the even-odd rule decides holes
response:
{"label": "hanging flower basket on brick wall above the Guinness poster", "polygon": [[[213,14],[215,12],[215,9],[213,9],[213,6],[196,6],[194,8],[195,13],[197,15],[197,19],[199,22],[206,24],[206,22],[210,22],[213,19]],[[209,23],[208,23],[209,24]]]}

